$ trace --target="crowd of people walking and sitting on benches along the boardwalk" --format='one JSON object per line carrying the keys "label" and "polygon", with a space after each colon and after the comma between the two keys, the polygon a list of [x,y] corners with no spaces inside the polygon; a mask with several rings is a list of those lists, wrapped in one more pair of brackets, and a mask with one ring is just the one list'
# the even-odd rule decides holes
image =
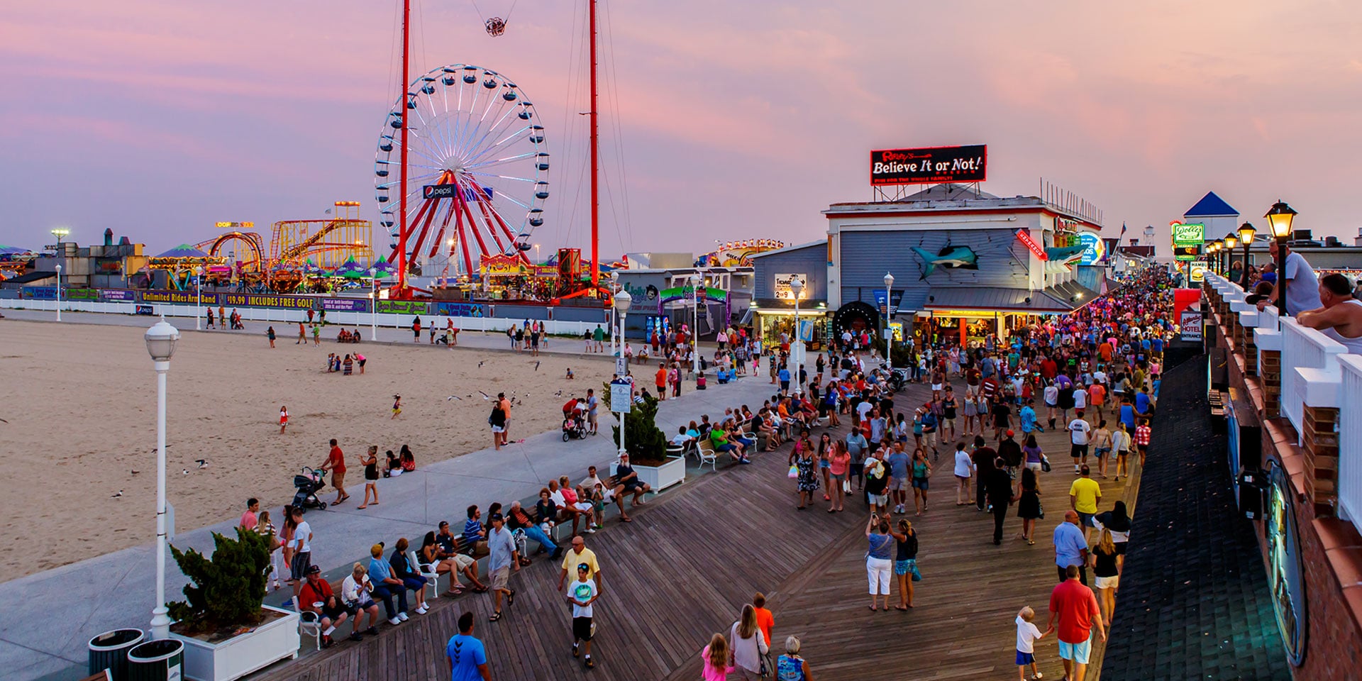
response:
{"label": "crowd of people walking and sitting on benches along the boardwalk", "polygon": [[[928,490],[941,466],[941,449],[953,452],[945,466],[957,482],[956,505],[974,505],[993,515],[993,543],[1002,543],[1004,526],[1009,516],[1016,516],[1020,519],[1016,538],[1034,545],[1035,522],[1045,513],[1041,500],[1049,498],[1042,496],[1042,479],[1046,473],[1056,474],[1058,463],[1051,464],[1051,458],[1064,456],[1043,451],[1036,434],[1064,430],[1073,479],[1068,482],[1065,522],[1053,535],[1060,586],[1051,595],[1050,625],[1043,632],[1032,622],[1032,609],[1017,613],[1016,663],[1023,678],[1027,667],[1035,671],[1035,642],[1057,631],[1066,673],[1081,681],[1092,629],[1105,637],[1105,625],[1113,616],[1130,531],[1125,504],[1105,500],[1100,481],[1130,475],[1132,459],[1139,456],[1143,463],[1148,454],[1163,351],[1173,332],[1170,308],[1171,279],[1166,270],[1155,267],[1073,313],[1017,326],[1007,338],[990,336],[964,349],[911,343],[911,361],[903,377],[930,385],[930,396],[921,403],[904,400],[895,390],[902,381],[878,366],[868,338],[843,338],[843,343],[835,343],[825,354],[816,355],[812,366],[805,366],[794,362],[786,336],[763,343],[745,330],[725,330],[712,357],[701,358],[703,369],[718,368],[737,376],[750,368],[752,373],[760,373],[765,361],[774,394],[756,410],[741,405],[712,419],[701,415],[681,426],[671,445],[712,449],[742,464],[760,452],[790,444],[787,463],[795,508],[839,513],[849,503],[857,509],[859,497],[869,512],[865,524],[869,609],[908,610],[914,607],[914,583],[922,579],[917,565],[919,538],[911,518],[932,512]],[[518,339],[512,332],[512,343],[518,350],[535,351],[537,328],[531,324],[523,331],[528,331],[528,338],[522,332]],[[584,338],[592,351],[605,339],[603,332],[592,331]],[[693,366],[695,351],[684,328],[654,335],[640,346],[644,361],[659,362],[652,385],[659,399],[669,392],[680,394],[674,383]],[[621,347],[621,354],[637,357],[629,345]],[[647,391],[647,385],[636,385],[636,392]],[[512,400],[497,395],[489,418],[497,447],[505,444],[511,407]],[[573,398],[564,406],[564,418],[583,418],[584,428],[595,432],[597,409],[592,394],[582,400]],[[843,428],[844,433],[835,433]],[[366,467],[377,466],[376,448],[361,460]],[[331,470],[335,478],[334,464]],[[347,498],[342,484],[343,478],[335,482],[336,503]],[[527,545],[534,542],[535,553],[563,558],[558,590],[567,588],[564,598],[572,607],[572,652],[582,655],[583,665],[590,667],[592,607],[601,598],[602,583],[599,564],[586,549],[584,537],[602,526],[610,504],[617,505],[621,523],[632,522],[624,501],[631,500],[629,508],[643,505],[647,492],[648,486],[637,479],[624,455],[614,477],[602,479],[592,467],[576,484],[567,477],[549,481],[533,507],[522,507],[519,501],[492,504],[486,511],[488,524],[482,508],[469,507],[459,534],[441,522],[419,546],[406,538],[399,538],[392,549],[376,543],[368,558],[353,565],[339,598],[328,594],[330,587],[321,586],[324,580],[317,583],[315,577],[309,563],[313,538],[301,509],[286,509],[279,530],[266,513],[253,527],[275,534],[278,552],[289,565],[286,582],[291,582],[298,606],[324,618],[324,646],[331,644],[335,628],[346,620],[351,622],[351,639],[375,633],[379,602],[392,625],[405,621],[407,613],[424,613],[428,576],[448,576],[447,595],[492,592],[490,621],[496,622],[515,603],[509,575],[528,563]],[[373,501],[368,490],[365,497],[365,504],[377,503],[376,490]],[[568,523],[569,550],[556,539],[556,528],[567,530]],[[479,573],[481,556],[488,557],[488,567]],[[1087,586],[1090,568],[1096,592]],[[473,627],[473,616],[464,613],[459,620],[460,633],[448,648],[454,670],[479,673],[486,665],[485,648],[474,643]],[[786,637],[786,654],[772,659],[772,627],[774,617],[764,607],[764,597],[757,594],[729,631],[715,633],[701,651],[704,677],[775,674],[783,680],[812,680],[809,663],[798,654],[797,637]],[[478,677],[456,674],[455,678]]]}

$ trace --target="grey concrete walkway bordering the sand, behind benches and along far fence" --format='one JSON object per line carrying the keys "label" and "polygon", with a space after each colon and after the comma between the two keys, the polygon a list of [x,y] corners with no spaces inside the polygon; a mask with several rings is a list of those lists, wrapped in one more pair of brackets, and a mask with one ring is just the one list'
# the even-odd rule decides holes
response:
{"label": "grey concrete walkway bordering the sand, behind benches and along far fence", "polygon": [[[52,313],[5,311],[5,317],[41,320],[50,319]],[[63,323],[150,326],[151,319],[64,312]],[[203,332],[263,335],[264,327],[248,323],[245,331]],[[368,330],[361,331],[368,338]],[[328,330],[328,334],[334,331]],[[287,338],[287,334],[281,336]],[[411,336],[405,330],[379,330],[379,338],[380,342],[410,342]],[[494,350],[509,343],[494,334],[484,336],[474,332],[459,334],[459,345]],[[546,351],[579,354],[582,347],[580,340],[553,339]],[[686,390],[681,399],[661,405],[658,426],[674,433],[678,425],[699,419],[700,414],[722,415],[725,407],[744,403],[759,407],[772,388],[767,376],[748,376],[707,391]],[[357,557],[368,556],[369,546],[377,541],[391,546],[399,537],[418,539],[445,519],[459,527],[469,504],[485,508],[492,501],[524,500],[538,494],[549,478],[567,474],[579,479],[591,464],[607,473],[614,460],[614,445],[609,437],[612,422],[607,414],[602,417],[601,429],[606,434],[601,437],[564,443],[554,430],[530,436],[524,443],[501,451],[482,449],[384,479],[380,482],[383,503],[365,511],[355,509],[354,504],[336,511],[312,511],[308,513],[315,535],[312,560],[328,572],[338,571]],[[470,424],[470,428],[484,425]],[[174,498],[170,503],[174,504]],[[279,509],[271,511],[275,515]],[[225,519],[210,527],[180,533],[172,543],[208,553],[212,549],[211,533],[232,535],[234,526],[236,518]],[[98,527],[91,524],[71,531],[98,531]],[[185,579],[173,560],[168,557],[168,563],[166,598],[180,599]],[[121,627],[150,628],[155,599],[155,549],[153,545],[136,546],[4,582],[0,583],[0,599],[14,607],[0,621],[0,669],[7,670],[3,676],[14,680],[79,678],[84,676],[87,642],[93,636]]]}

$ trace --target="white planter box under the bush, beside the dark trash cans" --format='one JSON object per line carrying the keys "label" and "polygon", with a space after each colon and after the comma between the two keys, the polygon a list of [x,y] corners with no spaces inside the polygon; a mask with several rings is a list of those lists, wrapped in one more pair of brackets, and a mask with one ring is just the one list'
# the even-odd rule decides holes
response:
{"label": "white planter box under the bush, beside the dark trash cans", "polygon": [[298,656],[298,613],[260,606],[283,614],[255,631],[222,643],[207,643],[172,632],[184,642],[184,676],[193,681],[232,681],[285,658]]}

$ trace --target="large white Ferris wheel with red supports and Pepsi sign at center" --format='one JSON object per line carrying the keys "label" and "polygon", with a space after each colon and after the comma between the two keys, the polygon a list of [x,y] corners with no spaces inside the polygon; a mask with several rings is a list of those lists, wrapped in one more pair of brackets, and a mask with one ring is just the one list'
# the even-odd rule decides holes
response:
{"label": "large white Ferris wheel with red supports and Pepsi sign at center", "polygon": [[[375,189],[392,252],[413,262],[447,255],[460,275],[482,256],[527,262],[530,233],[543,225],[549,154],[534,105],[496,71],[452,64],[407,89],[407,242],[400,244],[402,112],[395,102],[379,133]],[[448,234],[448,237],[447,237]]]}

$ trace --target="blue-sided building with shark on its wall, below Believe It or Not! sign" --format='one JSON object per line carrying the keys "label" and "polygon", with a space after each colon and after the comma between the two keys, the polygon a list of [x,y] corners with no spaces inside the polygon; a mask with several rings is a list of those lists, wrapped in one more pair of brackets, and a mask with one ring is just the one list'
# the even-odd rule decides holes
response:
{"label": "blue-sided building with shark on its wall, below Believe It or Not! sign", "polygon": [[844,328],[883,328],[891,302],[885,274],[893,275],[893,321],[919,340],[982,340],[1032,315],[1073,311],[1105,287],[1106,268],[1092,251],[1102,248],[1092,247],[1100,244],[1096,218],[1036,196],[940,184],[893,202],[834,203],[823,212],[825,241],[752,259],[763,336],[793,328],[790,276],[805,281],[801,320],[821,323],[813,342]]}

